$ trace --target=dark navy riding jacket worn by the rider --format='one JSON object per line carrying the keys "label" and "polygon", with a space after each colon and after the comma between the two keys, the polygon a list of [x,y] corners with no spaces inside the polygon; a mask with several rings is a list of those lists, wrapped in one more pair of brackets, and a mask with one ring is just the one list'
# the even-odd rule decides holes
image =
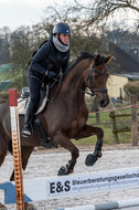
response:
{"label": "dark navy riding jacket worn by the rider", "polygon": [[56,75],[65,73],[68,70],[70,50],[60,52],[53,44],[53,35],[50,35],[47,42],[42,44],[34,54],[29,65],[29,75],[36,76],[42,80],[46,71],[53,71]]}

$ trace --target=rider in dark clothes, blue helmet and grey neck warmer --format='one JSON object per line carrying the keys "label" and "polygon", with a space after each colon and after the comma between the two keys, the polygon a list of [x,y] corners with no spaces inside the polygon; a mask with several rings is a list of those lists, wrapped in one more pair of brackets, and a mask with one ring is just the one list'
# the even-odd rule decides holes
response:
{"label": "rider in dark clothes, blue helmet and grey neck warmer", "polygon": [[30,62],[28,74],[30,97],[22,129],[22,136],[24,137],[30,137],[33,134],[33,115],[39,106],[40,88],[44,77],[50,82],[60,74],[61,69],[63,74],[68,71],[71,34],[68,24],[57,23],[49,41],[42,44]]}

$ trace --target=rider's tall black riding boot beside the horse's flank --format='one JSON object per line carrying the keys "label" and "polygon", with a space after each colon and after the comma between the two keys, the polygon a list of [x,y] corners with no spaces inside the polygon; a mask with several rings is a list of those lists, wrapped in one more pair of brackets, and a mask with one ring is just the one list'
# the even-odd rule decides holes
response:
{"label": "rider's tall black riding boot beside the horse's flank", "polygon": [[22,129],[23,137],[30,137],[33,134],[32,122],[33,122],[33,116],[34,116],[34,113],[36,112],[36,108],[38,108],[36,104],[32,102],[31,97],[29,97],[28,104],[26,104],[26,112],[25,112],[25,123]]}

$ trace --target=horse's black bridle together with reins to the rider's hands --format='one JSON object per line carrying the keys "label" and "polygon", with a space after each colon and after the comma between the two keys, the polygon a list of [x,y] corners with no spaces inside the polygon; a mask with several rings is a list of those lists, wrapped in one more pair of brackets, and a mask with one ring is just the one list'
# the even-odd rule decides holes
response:
{"label": "horse's black bridle together with reins to the rider's hands", "polygon": [[[62,81],[62,77],[61,77],[61,80],[53,78],[53,81],[58,82],[60,84],[65,84],[67,87],[73,88],[73,90],[77,90],[78,92],[84,93],[84,94],[87,94],[87,95],[89,95],[89,96],[94,96],[96,92],[107,93],[107,91],[108,91],[107,88],[94,88],[94,85],[93,85],[93,81],[94,81],[94,80],[93,80],[93,72],[98,72],[99,74],[106,75],[106,73],[100,72],[100,71],[94,69],[94,67],[93,67],[93,61],[92,61],[90,67],[89,67],[89,74],[88,74],[88,80],[89,80],[89,83],[90,83],[90,91],[92,91],[92,93],[86,92],[86,91],[83,91],[82,88],[78,88],[78,87],[73,86],[73,85],[71,85],[71,84],[68,84],[68,83],[63,82],[63,81]],[[60,88],[61,88],[61,85],[60,85]],[[54,96],[53,96],[51,103],[53,102],[53,99],[54,99],[55,96],[57,95],[60,88],[58,88],[58,90],[56,91],[56,93],[54,94]]]}

